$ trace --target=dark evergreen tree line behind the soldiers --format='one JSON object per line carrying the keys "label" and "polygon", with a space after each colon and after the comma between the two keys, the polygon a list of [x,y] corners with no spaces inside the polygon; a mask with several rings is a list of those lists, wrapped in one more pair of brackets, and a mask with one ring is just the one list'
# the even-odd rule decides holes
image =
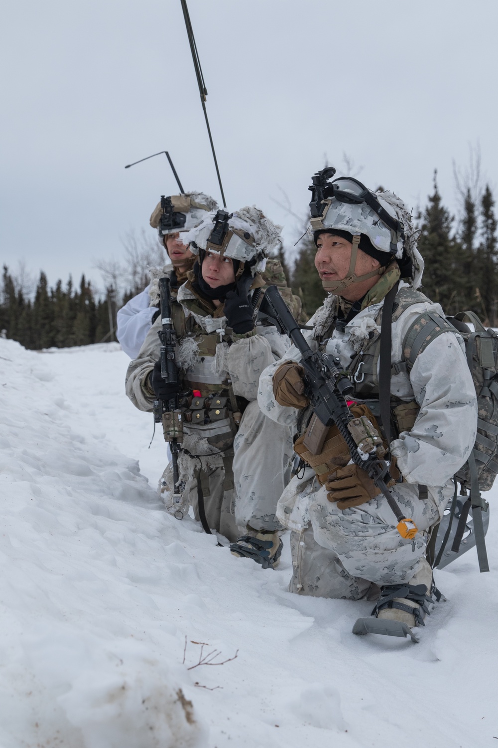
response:
{"label": "dark evergreen tree line behind the soldiers", "polygon": [[[423,211],[415,217],[418,246],[425,260],[423,292],[447,314],[472,310],[485,325],[498,327],[498,239],[491,187],[460,189],[458,220],[443,205],[437,174]],[[160,265],[164,251],[151,236],[130,234],[123,241],[121,263],[100,263],[105,293],[96,293],[85,276],[79,286],[71,278],[54,287],[40,273],[34,295],[4,265],[0,286],[0,334],[28,349],[86,346],[116,340],[116,310],[148,283],[148,266]],[[293,292],[302,298],[308,316],[323,303],[325,292],[314,267],[316,248],[306,236],[299,242],[293,269],[278,251]]]}

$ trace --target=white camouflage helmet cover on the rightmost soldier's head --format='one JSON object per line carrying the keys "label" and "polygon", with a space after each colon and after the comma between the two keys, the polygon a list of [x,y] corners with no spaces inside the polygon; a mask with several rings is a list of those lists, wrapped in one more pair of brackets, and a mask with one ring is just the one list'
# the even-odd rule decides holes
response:
{"label": "white camouflage helmet cover on the rightmost soldier's head", "polygon": [[386,190],[376,192],[375,195],[382,207],[402,223],[402,233],[394,233],[367,203],[341,203],[335,197],[329,197],[323,200],[326,207],[320,218],[311,218],[311,236],[320,229],[337,229],[353,235],[365,234],[373,247],[381,252],[390,252],[393,243],[396,245],[396,254],[393,255],[396,259],[400,260],[403,252],[410,257],[413,287],[417,288],[422,281],[424,263],[417,249],[417,231],[411,215],[405,203],[393,192]]}

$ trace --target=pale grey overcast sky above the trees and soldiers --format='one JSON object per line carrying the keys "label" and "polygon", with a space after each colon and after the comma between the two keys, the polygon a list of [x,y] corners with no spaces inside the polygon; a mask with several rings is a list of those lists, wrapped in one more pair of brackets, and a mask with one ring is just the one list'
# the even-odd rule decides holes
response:
{"label": "pale grey overcast sky above the trees and soldiers", "polygon": [[[188,0],[229,209],[305,215],[314,171],[424,204],[480,144],[495,188],[496,0]],[[0,30],[0,261],[98,284],[177,187],[221,202],[180,0],[16,0]]]}

